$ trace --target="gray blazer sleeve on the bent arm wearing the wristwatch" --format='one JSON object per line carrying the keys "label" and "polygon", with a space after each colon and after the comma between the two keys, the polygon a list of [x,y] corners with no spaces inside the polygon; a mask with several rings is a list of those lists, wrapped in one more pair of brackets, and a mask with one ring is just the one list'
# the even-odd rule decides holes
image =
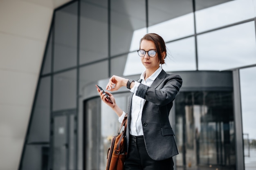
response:
{"label": "gray blazer sleeve on the bent arm wearing the wristwatch", "polygon": [[182,78],[175,74],[167,74],[163,80],[155,79],[155,81],[162,82],[157,87],[139,84],[136,95],[158,106],[172,102],[182,86]]}

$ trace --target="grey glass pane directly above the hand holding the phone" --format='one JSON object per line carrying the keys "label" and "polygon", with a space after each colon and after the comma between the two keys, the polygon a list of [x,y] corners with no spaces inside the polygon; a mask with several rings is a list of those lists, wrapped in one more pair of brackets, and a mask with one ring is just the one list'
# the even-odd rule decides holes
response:
{"label": "grey glass pane directly above the hand holding the phone", "polygon": [[[83,93],[86,84],[106,78],[108,78],[108,60],[81,67],[79,77],[80,94]],[[96,91],[97,89],[93,90]]]}

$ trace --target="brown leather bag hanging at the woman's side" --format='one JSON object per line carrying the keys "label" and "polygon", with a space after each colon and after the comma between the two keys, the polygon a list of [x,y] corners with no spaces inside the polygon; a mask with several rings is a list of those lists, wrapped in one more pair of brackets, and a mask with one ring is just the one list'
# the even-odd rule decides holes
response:
{"label": "brown leather bag hanging at the woman's side", "polygon": [[[124,126],[122,132],[121,129]],[[124,161],[126,159],[125,136],[127,126],[127,114],[119,128],[118,135],[111,139],[111,146],[108,148],[107,167],[106,170],[124,170]]]}

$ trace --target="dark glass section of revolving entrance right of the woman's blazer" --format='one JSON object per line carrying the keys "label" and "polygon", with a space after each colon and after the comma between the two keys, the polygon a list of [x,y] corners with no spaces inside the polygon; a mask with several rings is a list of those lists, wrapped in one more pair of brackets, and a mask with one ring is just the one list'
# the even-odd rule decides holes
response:
{"label": "dark glass section of revolving entrance right of the woman's blazer", "polygon": [[232,92],[180,92],[175,114],[177,170],[236,170]]}

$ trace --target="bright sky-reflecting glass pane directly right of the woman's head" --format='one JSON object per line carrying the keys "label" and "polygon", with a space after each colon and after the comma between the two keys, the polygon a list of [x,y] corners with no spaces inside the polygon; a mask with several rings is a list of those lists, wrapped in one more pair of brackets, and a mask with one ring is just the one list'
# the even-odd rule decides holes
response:
{"label": "bright sky-reflecting glass pane directly right of the woman's head", "polygon": [[186,71],[196,69],[194,37],[167,43],[166,48],[166,64],[162,65],[162,68],[165,71]]}

